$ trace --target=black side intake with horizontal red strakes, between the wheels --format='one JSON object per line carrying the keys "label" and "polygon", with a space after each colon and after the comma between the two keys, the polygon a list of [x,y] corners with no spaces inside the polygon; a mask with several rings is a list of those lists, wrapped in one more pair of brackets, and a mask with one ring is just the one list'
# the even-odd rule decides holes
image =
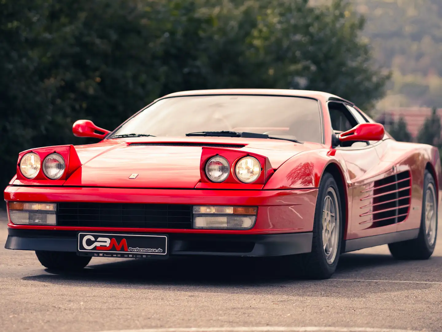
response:
{"label": "black side intake with horizontal red strakes, between the wheels", "polygon": [[369,211],[360,216],[371,216],[371,219],[362,221],[361,224],[374,222],[373,226],[380,227],[400,223],[407,218],[410,208],[410,172],[405,171],[374,181],[373,186],[362,190],[362,193],[369,195],[361,198],[361,201],[367,201],[361,208],[368,208]]}

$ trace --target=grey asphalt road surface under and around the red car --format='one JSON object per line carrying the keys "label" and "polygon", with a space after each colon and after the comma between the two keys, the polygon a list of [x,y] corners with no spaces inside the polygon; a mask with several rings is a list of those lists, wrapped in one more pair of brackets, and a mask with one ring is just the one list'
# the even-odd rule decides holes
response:
{"label": "grey asphalt road surface under and around the red car", "polygon": [[0,331],[442,331],[442,236],[427,261],[386,246],[345,254],[325,281],[250,259],[93,258],[51,274],[34,252],[3,248],[0,219]]}

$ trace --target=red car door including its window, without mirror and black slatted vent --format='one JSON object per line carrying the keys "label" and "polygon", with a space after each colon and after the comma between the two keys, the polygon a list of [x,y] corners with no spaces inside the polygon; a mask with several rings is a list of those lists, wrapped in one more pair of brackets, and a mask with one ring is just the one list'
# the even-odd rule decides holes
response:
{"label": "red car door including its window, without mirror and black slatted vent", "polygon": [[[328,102],[331,126],[335,133],[347,131],[359,123],[368,122],[351,105]],[[383,141],[346,142],[335,147],[349,176],[347,183],[349,224],[346,239],[395,232],[396,224],[386,224],[377,213],[377,193],[373,193],[375,181],[385,177],[385,170],[377,148]],[[374,205],[376,206],[376,205]]]}

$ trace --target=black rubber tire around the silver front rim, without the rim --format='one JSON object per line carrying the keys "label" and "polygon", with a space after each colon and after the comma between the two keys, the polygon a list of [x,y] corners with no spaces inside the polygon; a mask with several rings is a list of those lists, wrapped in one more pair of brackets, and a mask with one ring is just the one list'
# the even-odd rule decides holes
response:
{"label": "black rubber tire around the silver front rim, without the rim", "polygon": [[[335,211],[338,214],[339,224],[336,227],[337,234],[337,247],[335,249],[335,258],[333,261],[328,262],[323,247],[323,209],[324,201],[326,197],[331,193],[329,189],[332,189],[335,193],[336,205]],[[336,215],[335,212],[335,215]],[[313,241],[312,251],[307,254],[300,255],[300,263],[302,267],[302,276],[308,279],[328,279],[335,272],[336,266],[339,261],[339,254],[341,252],[342,245],[342,230],[345,220],[343,218],[341,201],[339,197],[338,185],[329,173],[324,173],[322,176],[318,197],[316,200],[315,217],[313,221]]]}

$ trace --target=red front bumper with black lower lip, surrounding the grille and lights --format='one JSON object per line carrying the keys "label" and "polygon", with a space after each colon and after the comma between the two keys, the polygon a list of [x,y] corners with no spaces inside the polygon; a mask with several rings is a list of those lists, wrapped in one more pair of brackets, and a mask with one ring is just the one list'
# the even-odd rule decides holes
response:
{"label": "red front bumper with black lower lip, surrounding the grille and lights", "polygon": [[8,186],[4,198],[22,202],[94,202],[257,206],[250,230],[35,226],[8,224],[5,248],[76,251],[77,232],[161,233],[169,255],[279,256],[310,252],[317,189],[211,190]]}

